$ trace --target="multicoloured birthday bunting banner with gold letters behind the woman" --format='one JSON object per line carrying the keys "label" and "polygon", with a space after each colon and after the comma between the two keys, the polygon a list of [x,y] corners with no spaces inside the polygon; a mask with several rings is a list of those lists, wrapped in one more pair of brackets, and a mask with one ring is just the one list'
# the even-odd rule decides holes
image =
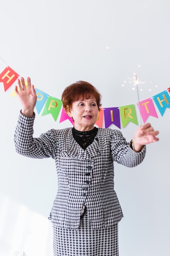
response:
{"label": "multicoloured birthday bunting banner with gold letters behind the woman", "polygon": [[[1,60],[2,61],[2,60]],[[4,64],[4,62],[2,61]],[[5,65],[5,64],[4,64]],[[0,70],[0,82],[4,85],[4,92],[6,92],[11,85],[16,81],[19,77],[11,67],[6,66],[4,70]],[[27,87],[27,81],[25,81]],[[58,119],[58,115],[60,114],[60,123],[69,119],[69,121],[74,125],[71,117],[68,117],[65,113],[64,108],[62,107],[62,102],[60,99],[56,97],[52,97],[49,94],[42,92],[40,89],[35,88],[37,101],[36,101],[36,110],[38,115],[42,111],[41,116],[51,114],[54,121]],[[15,90],[12,92],[11,97],[16,96]],[[166,111],[166,108],[170,108],[170,88],[167,90],[160,92],[152,96],[149,99],[145,99],[143,101],[139,101],[136,103],[143,123],[146,122],[149,116],[158,118],[156,108],[160,112],[161,116]],[[112,124],[119,129],[125,128],[129,122],[138,125],[138,120],[136,116],[135,104],[130,104],[126,106],[118,106],[112,108],[101,108],[101,111],[98,112],[98,117],[96,121],[96,125],[100,128],[103,127],[103,119],[105,128],[108,128]]]}

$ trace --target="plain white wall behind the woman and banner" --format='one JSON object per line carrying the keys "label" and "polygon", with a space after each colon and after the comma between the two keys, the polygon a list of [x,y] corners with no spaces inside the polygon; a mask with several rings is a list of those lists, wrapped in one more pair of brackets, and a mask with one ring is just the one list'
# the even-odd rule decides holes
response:
{"label": "plain white wall behind the woman and banner", "polygon": [[[1,1],[0,58],[56,98],[70,83],[85,80],[100,90],[103,107],[132,104],[138,101],[128,80],[133,72],[145,81],[139,85],[140,100],[170,87],[169,8],[168,0]],[[10,97],[14,85],[7,92],[0,85],[0,255],[23,250],[27,256],[49,256],[55,163],[15,152],[20,103]],[[157,112],[158,119],[147,121],[160,131],[160,141],[147,146],[144,162],[131,169],[115,164],[115,190],[124,213],[120,256],[170,255],[170,109],[163,117]],[[59,124],[37,114],[34,135],[67,126],[69,121]],[[122,129],[127,140],[136,128],[130,123]]]}

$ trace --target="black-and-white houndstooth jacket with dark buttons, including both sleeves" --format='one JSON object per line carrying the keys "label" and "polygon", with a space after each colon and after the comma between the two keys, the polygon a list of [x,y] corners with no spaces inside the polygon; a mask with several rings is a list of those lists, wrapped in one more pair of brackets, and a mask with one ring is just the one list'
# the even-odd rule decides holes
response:
{"label": "black-and-white houndstooth jacket with dark buttons, including both sleeves", "polygon": [[128,167],[140,164],[145,147],[135,153],[119,130],[98,128],[91,145],[83,150],[72,128],[49,130],[33,138],[33,117],[20,114],[15,131],[16,151],[56,162],[58,192],[49,219],[58,227],[78,229],[83,204],[93,229],[110,227],[123,213],[114,191],[114,161]]}

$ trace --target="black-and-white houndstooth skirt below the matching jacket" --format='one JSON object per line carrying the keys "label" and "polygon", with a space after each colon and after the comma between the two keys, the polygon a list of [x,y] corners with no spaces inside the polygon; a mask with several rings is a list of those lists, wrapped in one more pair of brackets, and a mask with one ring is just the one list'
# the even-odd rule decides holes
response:
{"label": "black-and-white houndstooth skirt below the matching jacket", "polygon": [[78,230],[53,226],[54,256],[119,256],[118,224],[92,230],[87,213]]}

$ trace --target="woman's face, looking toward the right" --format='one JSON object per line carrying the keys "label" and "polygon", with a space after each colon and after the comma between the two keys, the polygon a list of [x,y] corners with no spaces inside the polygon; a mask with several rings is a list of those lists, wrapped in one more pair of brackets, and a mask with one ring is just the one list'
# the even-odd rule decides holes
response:
{"label": "woman's face, looking toward the right", "polygon": [[68,115],[73,118],[76,130],[92,130],[98,116],[96,97],[74,101]]}

